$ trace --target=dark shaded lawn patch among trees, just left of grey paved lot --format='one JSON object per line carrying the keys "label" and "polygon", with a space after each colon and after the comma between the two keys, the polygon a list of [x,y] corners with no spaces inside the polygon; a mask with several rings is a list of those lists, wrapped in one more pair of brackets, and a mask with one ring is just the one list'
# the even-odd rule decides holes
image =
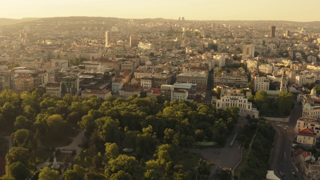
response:
{"label": "dark shaded lawn patch among trees, just left of grey paved lot", "polygon": [[184,171],[193,171],[194,167],[198,165],[199,159],[199,154],[186,151],[177,151],[173,157],[174,163],[182,164]]}

